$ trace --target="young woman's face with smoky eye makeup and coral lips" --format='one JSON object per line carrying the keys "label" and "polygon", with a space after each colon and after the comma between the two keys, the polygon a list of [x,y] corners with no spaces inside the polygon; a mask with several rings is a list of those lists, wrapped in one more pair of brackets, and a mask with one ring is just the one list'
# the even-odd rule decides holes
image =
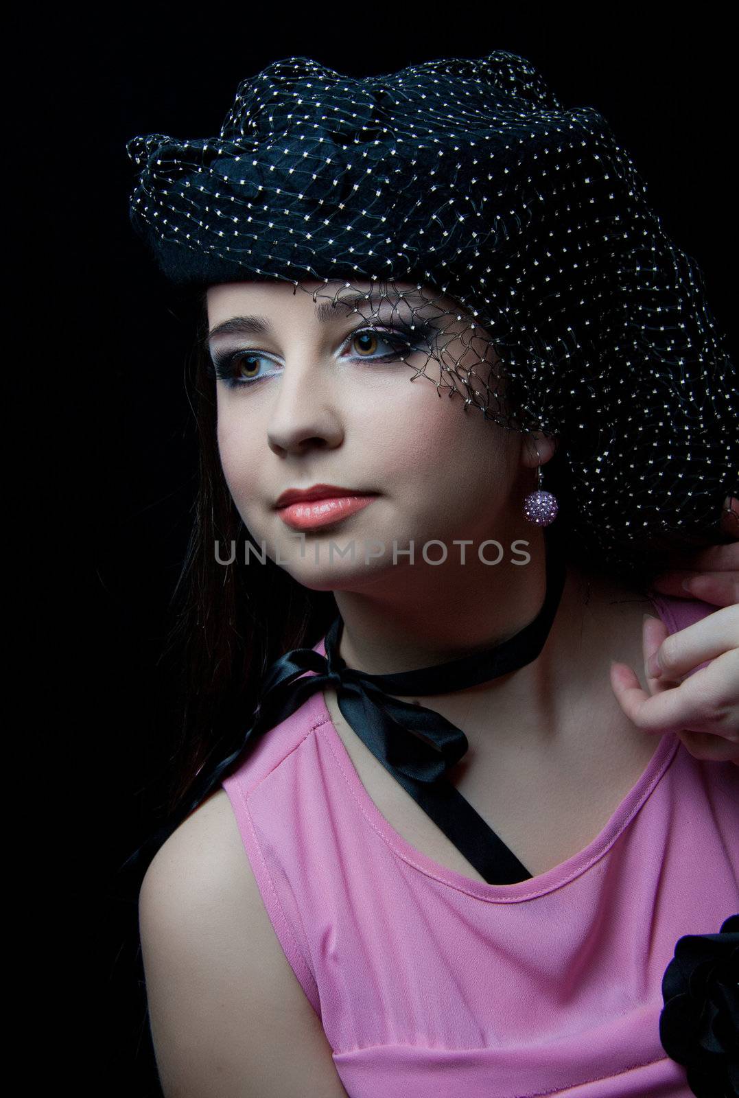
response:
{"label": "young woman's face with smoky eye makeup and coral lips", "polygon": [[[267,556],[314,590],[396,578],[410,557],[396,556],[393,563],[393,549],[400,553],[411,544],[414,567],[436,579],[439,569],[422,559],[426,542],[441,541],[448,560],[459,561],[455,539],[473,541],[468,553],[496,539],[508,554],[511,539],[530,531],[522,514],[524,495],[535,488],[534,447],[485,419],[479,407],[464,408],[459,378],[473,368],[489,380],[496,361],[489,338],[470,328],[454,301],[429,290],[427,304],[378,296],[326,307],[370,289],[369,282],[304,282],[296,290],[281,282],[234,282],[208,291],[211,357],[220,373],[231,373],[216,381],[217,442],[228,489],[257,546],[264,542]],[[405,283],[393,289],[416,291]],[[240,332],[233,324],[214,330],[235,317],[250,320],[242,321]],[[415,330],[403,330],[411,322]],[[415,350],[403,344],[408,337]],[[436,357],[424,347],[436,347]],[[484,397],[474,374],[472,386]],[[329,525],[288,525],[278,497],[314,484],[373,498],[340,519],[324,507]],[[495,548],[488,554],[494,558]],[[429,547],[429,559],[443,556],[440,546]]]}

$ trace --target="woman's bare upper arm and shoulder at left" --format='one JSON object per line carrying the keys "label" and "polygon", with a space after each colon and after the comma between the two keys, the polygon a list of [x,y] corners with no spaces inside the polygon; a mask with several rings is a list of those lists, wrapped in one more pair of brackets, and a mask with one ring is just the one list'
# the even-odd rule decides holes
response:
{"label": "woman's bare upper arm and shoulder at left", "polygon": [[225,791],[158,851],[139,929],[166,1098],[347,1098],[275,933]]}

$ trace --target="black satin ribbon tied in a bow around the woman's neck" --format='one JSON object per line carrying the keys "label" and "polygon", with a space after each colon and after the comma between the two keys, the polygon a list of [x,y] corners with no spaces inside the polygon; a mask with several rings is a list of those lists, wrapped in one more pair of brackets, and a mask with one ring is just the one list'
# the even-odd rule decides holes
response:
{"label": "black satin ribbon tied in a bow around the woman's neck", "polygon": [[[485,881],[515,884],[530,878],[526,866],[446,778],[469,747],[464,732],[433,709],[391,695],[447,694],[531,663],[545,646],[564,587],[562,547],[549,528],[545,545],[547,591],[539,613],[513,637],[484,651],[400,674],[365,674],[347,668],[338,654],[339,616],[326,634],[325,657],[311,648],[282,656],[264,679],[254,722],[240,744],[210,774],[199,775],[199,792],[177,822],[220,784],[247,743],[285,720],[316,691],[333,686],[347,724]],[[160,844],[176,826],[170,821],[147,847]],[[138,861],[143,849],[126,865]]]}

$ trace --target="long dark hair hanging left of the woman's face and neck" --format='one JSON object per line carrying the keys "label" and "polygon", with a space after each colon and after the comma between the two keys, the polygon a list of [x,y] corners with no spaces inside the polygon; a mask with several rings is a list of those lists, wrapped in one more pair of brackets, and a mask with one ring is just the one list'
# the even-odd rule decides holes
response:
{"label": "long dark hair hanging left of the woman's face and neck", "polygon": [[[167,650],[179,666],[182,716],[166,796],[167,813],[187,797],[198,772],[242,740],[266,670],[291,648],[312,648],[337,614],[331,592],[312,591],[266,558],[245,567],[245,542],[259,551],[228,491],[216,439],[206,291],[198,291],[188,388],[197,422],[199,477],[193,523],[172,602]],[[234,563],[216,561],[234,556]],[[232,553],[232,544],[234,553]],[[253,558],[254,559],[254,558]]]}

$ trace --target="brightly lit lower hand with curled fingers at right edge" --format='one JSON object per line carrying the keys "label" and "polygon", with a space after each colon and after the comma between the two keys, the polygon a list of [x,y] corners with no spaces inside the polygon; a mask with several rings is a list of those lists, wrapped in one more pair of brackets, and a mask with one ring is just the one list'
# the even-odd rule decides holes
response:
{"label": "brightly lit lower hand with curled fingers at right edge", "polygon": [[643,731],[675,732],[695,759],[739,766],[739,605],[673,634],[645,615],[642,647],[649,694],[627,664],[611,665],[626,716]]}

